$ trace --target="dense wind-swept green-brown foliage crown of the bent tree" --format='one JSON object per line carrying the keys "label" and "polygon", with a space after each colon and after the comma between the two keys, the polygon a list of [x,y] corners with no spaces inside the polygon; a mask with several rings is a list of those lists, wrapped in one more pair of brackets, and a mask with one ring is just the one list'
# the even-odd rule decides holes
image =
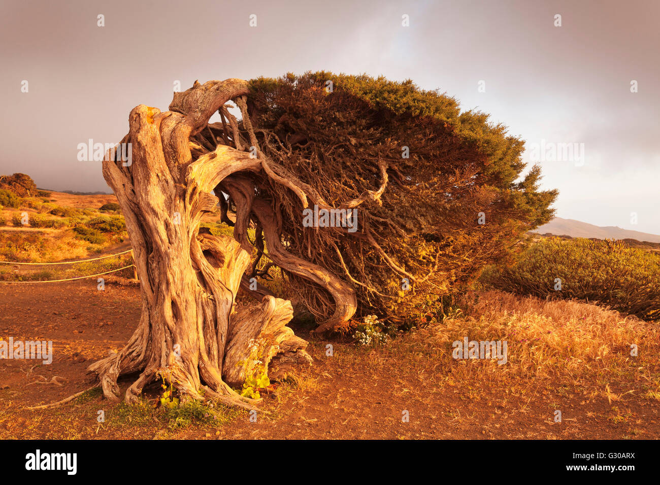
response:
{"label": "dense wind-swept green-brown foliage crown of the bent tree", "polygon": [[[405,319],[552,218],[557,193],[539,191],[540,169],[520,179],[523,141],[438,91],[326,72],[249,89],[239,131],[273,172],[253,176],[256,197],[278,212],[286,251],[341,278],[361,313]],[[305,227],[308,205],[355,209],[358,230]],[[318,317],[332,313],[327,289],[288,274]]]}

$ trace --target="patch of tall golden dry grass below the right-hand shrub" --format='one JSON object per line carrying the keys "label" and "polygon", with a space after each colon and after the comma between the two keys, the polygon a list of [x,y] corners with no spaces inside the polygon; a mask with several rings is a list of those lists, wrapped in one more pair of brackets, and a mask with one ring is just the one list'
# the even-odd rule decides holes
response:
{"label": "patch of tall golden dry grass below the right-hand shrub", "polygon": [[[593,387],[612,401],[611,381],[638,383],[653,399],[660,390],[657,323],[581,302],[545,301],[492,290],[471,292],[462,311],[403,337],[401,352],[425,354],[452,380],[545,379]],[[452,342],[506,340],[508,362],[454,360]],[[636,344],[638,355],[631,356]],[[445,373],[445,370],[439,370]]]}

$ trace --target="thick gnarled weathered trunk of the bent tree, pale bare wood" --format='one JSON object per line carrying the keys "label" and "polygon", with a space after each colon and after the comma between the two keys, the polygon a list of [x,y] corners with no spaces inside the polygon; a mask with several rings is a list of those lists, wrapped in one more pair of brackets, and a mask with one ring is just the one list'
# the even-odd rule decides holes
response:
{"label": "thick gnarled weathered trunk of the bent tree, pale bare wood", "polygon": [[[238,79],[195,82],[174,95],[168,112],[137,106],[122,141],[132,144],[132,163],[123,166],[112,152],[103,162],[126,220],[143,300],[127,345],[89,367],[109,399],[119,400],[119,376],[139,372],[125,393],[127,402],[164,377],[187,397],[251,408],[254,402],[230,385],[241,385],[257,361],[267,366],[275,358],[284,369],[290,362],[311,362],[307,342],[286,327],[290,302],[265,294],[258,304],[237,302],[251,261],[244,234],[236,241],[199,232],[201,216],[218,204],[212,189],[236,172],[261,170],[261,161],[248,152],[207,146],[218,143],[213,133],[218,127],[207,124],[211,115],[247,92],[247,83]],[[191,140],[207,128],[215,143]],[[226,143],[228,135],[222,135]],[[249,214],[250,207],[246,201],[242,210]],[[240,230],[247,224],[249,218],[237,222]]]}

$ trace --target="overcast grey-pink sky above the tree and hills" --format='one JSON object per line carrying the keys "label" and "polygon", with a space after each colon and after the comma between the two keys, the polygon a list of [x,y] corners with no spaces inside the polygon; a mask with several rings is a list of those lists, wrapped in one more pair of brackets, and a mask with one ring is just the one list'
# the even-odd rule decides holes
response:
{"label": "overcast grey-pink sky above the tree and hills", "polygon": [[176,81],[323,69],[440,88],[527,141],[558,216],[660,234],[658,1],[2,0],[0,18],[0,174],[39,187],[110,191],[78,144],[119,142]]}

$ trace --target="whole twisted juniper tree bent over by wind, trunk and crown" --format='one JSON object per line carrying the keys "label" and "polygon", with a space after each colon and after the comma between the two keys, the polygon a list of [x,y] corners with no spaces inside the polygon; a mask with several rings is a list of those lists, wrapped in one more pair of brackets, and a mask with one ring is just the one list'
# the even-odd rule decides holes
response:
{"label": "whole twisted juniper tree bent over by wind, trunk and crown", "polygon": [[[209,123],[216,112],[221,122]],[[409,81],[195,82],[167,112],[134,108],[121,142],[132,163],[111,150],[103,173],[126,219],[143,311],[125,348],[90,370],[114,400],[117,378],[139,373],[128,402],[162,377],[185,397],[251,407],[231,386],[257,366],[311,362],[286,327],[290,302],[250,284],[273,266],[317,332],[347,329],[356,313],[402,322],[506,258],[551,218],[556,197],[539,191],[537,167],[520,178],[523,142],[503,126]],[[312,207],[343,223],[310,224]],[[216,210],[233,238],[200,230]],[[253,298],[237,298],[239,288]]]}

